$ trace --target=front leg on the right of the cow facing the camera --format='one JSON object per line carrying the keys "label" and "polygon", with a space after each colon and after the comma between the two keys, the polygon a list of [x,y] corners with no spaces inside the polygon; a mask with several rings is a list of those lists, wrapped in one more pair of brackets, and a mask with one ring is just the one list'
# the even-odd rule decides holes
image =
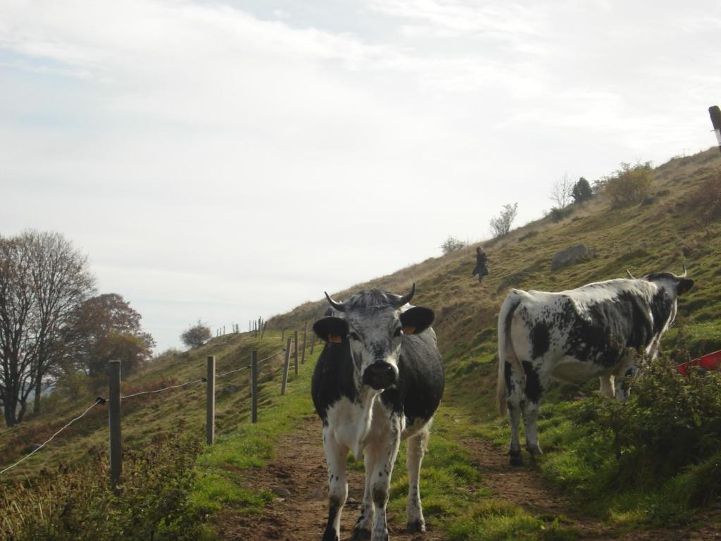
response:
{"label": "front leg on the right of the cow facing the camera", "polygon": [[373,530],[371,540],[388,541],[388,524],[386,522],[386,503],[391,485],[393,465],[398,455],[401,441],[401,422],[397,414],[391,415],[389,431],[383,439],[373,442],[376,458],[371,473],[371,500],[373,501]]}

